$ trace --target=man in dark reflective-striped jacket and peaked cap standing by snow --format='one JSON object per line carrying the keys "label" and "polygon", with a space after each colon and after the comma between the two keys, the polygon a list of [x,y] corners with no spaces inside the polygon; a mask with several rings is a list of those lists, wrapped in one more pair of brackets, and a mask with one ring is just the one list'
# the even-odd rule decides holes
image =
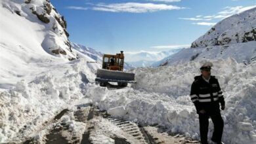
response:
{"label": "man in dark reflective-striped jacket and peaked cap standing by snow", "polygon": [[196,112],[199,115],[200,137],[202,144],[208,144],[207,134],[209,126],[209,117],[213,121],[214,131],[211,141],[217,144],[224,144],[221,142],[223,135],[223,118],[219,109],[225,109],[225,101],[223,92],[219,86],[218,80],[211,76],[211,67],[213,63],[205,62],[200,68],[202,75],[196,76],[192,83],[190,98],[196,106]]}

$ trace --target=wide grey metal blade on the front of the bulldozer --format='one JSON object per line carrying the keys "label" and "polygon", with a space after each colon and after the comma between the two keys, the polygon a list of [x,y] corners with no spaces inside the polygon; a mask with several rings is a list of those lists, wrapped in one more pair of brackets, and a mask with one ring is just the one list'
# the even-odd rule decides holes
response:
{"label": "wide grey metal blade on the front of the bulldozer", "polygon": [[135,74],[123,71],[111,71],[108,69],[98,69],[95,81],[99,82],[128,82],[135,83]]}

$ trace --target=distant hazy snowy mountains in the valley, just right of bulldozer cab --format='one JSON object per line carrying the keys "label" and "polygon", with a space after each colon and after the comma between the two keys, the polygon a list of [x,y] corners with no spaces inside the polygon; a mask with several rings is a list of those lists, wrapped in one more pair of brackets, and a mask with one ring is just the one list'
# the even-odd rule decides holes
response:
{"label": "distant hazy snowy mountains in the valley, just right of bulldozer cab", "polygon": [[135,67],[148,67],[167,56],[179,52],[179,50],[181,48],[163,52],[127,52],[125,53],[125,60]]}

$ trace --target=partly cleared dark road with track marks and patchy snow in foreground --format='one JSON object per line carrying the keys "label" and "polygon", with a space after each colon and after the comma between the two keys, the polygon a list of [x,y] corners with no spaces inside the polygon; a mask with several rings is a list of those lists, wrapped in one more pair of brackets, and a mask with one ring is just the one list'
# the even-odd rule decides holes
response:
{"label": "partly cleared dark road with track marks and patchy snow in foreground", "polygon": [[22,143],[198,143],[185,135],[167,134],[160,126],[138,126],[135,122],[111,117],[89,103],[76,107],[64,109],[37,134]]}

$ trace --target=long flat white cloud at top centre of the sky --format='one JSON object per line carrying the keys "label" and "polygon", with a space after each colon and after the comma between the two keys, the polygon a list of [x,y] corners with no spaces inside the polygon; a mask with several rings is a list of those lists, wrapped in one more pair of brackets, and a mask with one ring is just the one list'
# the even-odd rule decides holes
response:
{"label": "long flat white cloud at top centre of the sky", "polygon": [[142,13],[142,12],[155,12],[158,10],[179,10],[179,9],[184,9],[184,7],[177,7],[175,5],[154,4],[154,3],[112,3],[112,4],[99,3],[95,5],[92,9],[108,11],[108,12]]}

